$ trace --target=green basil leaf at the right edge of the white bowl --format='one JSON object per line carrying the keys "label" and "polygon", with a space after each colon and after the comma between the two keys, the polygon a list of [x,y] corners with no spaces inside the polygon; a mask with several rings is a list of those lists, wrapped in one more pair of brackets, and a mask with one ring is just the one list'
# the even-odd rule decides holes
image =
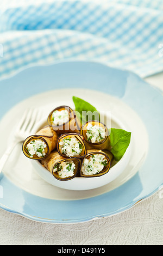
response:
{"label": "green basil leaf at the right edge of the white bowl", "polygon": [[111,153],[116,161],[120,161],[130,144],[131,132],[122,129],[111,128],[110,146]]}

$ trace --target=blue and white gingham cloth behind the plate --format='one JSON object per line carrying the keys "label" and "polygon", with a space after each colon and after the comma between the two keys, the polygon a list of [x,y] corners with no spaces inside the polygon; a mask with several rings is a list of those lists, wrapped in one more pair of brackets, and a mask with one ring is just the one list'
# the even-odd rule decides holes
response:
{"label": "blue and white gingham cloth behind the plate", "polygon": [[141,77],[163,70],[162,0],[8,2],[0,33],[1,78],[64,59],[95,60]]}

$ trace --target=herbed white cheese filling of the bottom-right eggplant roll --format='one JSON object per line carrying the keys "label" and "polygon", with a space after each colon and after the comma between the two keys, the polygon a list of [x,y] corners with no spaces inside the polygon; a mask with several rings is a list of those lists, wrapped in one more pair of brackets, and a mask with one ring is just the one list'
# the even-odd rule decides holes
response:
{"label": "herbed white cheese filling of the bottom-right eggplant roll", "polygon": [[82,173],[85,175],[97,174],[108,165],[108,161],[102,154],[91,155],[89,158],[85,158],[82,164]]}

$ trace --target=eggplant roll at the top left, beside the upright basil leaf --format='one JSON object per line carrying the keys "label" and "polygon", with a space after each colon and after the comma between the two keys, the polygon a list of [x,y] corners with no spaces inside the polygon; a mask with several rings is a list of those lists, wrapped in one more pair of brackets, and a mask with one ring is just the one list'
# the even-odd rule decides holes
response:
{"label": "eggplant roll at the top left, beside the upright basil leaf", "polygon": [[53,109],[48,115],[48,124],[53,127],[58,135],[69,132],[80,133],[80,121],[76,113],[68,106]]}

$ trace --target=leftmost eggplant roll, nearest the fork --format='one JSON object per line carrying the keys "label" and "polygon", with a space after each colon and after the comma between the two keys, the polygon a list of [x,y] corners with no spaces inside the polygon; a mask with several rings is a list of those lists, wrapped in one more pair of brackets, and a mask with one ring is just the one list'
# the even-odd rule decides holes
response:
{"label": "leftmost eggplant roll, nearest the fork", "polygon": [[41,160],[57,148],[57,133],[50,127],[43,127],[23,142],[23,153],[30,159]]}

